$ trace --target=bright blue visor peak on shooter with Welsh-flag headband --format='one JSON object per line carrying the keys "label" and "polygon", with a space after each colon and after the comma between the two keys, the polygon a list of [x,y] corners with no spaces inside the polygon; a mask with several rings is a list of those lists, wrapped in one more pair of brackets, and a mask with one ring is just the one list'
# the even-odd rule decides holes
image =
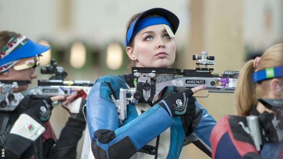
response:
{"label": "bright blue visor peak on shooter with Welsh-flag headband", "polygon": [[25,45],[17,48],[17,50],[14,50],[3,59],[0,59],[0,66],[12,62],[14,60],[19,60],[19,59],[24,59],[39,55],[43,52],[46,52],[49,49],[50,47],[48,46],[39,45],[33,42],[32,40],[28,39]]}

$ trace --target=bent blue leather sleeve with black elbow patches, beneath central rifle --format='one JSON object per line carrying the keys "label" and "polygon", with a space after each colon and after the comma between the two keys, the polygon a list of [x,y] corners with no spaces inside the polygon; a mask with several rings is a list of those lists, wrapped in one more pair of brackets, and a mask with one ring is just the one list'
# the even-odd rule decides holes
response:
{"label": "bent blue leather sleeve with black elbow patches, beneath central rifle", "polygon": [[173,124],[168,113],[155,104],[119,127],[117,109],[111,99],[113,91],[103,80],[97,80],[86,103],[86,120],[95,158],[130,158]]}

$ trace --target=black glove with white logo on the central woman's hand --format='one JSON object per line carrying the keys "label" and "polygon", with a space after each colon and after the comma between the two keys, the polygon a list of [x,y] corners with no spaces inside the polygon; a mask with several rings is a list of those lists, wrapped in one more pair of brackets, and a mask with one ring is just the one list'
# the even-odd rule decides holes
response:
{"label": "black glove with white logo on the central woman's hand", "polygon": [[159,102],[168,114],[173,116],[187,116],[193,115],[195,112],[195,98],[192,96],[194,93],[191,89],[183,93],[173,91],[168,97]]}

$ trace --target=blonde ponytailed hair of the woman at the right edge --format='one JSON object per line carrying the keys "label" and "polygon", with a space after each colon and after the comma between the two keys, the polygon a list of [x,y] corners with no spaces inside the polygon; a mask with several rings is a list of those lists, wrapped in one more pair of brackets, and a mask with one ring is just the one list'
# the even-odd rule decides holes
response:
{"label": "blonde ponytailed hair of the woman at the right edge", "polygon": [[[255,72],[253,62],[254,60],[250,60],[244,65],[238,78],[236,89],[238,115],[249,115],[249,112],[257,103],[257,99],[263,98],[270,89],[269,84],[271,80],[253,83],[252,74]],[[257,70],[280,65],[283,65],[283,43],[270,47],[262,54]]]}

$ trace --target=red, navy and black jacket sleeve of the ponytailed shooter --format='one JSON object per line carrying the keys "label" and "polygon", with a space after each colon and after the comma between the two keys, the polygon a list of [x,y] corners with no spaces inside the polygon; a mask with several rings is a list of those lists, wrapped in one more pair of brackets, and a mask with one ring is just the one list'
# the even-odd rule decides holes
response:
{"label": "red, navy and black jacket sleeve of the ponytailed shooter", "polygon": [[247,126],[243,116],[225,116],[215,125],[210,138],[213,159],[262,158],[250,135],[239,126],[239,122]]}

